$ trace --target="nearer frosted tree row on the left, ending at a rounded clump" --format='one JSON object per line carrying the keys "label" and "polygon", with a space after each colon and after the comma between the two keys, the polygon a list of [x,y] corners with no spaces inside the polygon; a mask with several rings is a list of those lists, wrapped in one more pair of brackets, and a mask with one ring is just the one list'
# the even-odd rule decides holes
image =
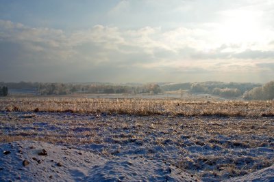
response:
{"label": "nearer frosted tree row on the left, ending at a rounded clump", "polygon": [[68,95],[72,93],[150,93],[158,94],[161,92],[160,86],[155,83],[140,85],[114,85],[111,83],[92,82],[92,83],[45,83],[45,82],[0,82],[13,90],[32,90],[38,95]]}

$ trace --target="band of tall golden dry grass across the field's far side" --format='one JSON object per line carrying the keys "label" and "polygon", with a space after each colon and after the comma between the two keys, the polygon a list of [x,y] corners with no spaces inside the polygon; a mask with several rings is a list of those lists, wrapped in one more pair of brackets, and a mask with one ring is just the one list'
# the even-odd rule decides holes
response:
{"label": "band of tall golden dry grass across the field's far side", "polygon": [[273,117],[273,101],[186,101],[145,99],[2,99],[1,111],[105,113],[127,115],[182,115]]}

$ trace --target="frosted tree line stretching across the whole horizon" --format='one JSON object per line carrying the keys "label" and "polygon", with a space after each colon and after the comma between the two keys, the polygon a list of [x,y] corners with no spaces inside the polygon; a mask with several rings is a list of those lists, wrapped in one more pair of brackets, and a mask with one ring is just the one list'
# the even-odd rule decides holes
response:
{"label": "frosted tree line stretching across the whole horizon", "polygon": [[187,90],[190,93],[208,93],[221,97],[238,97],[245,100],[273,100],[274,81],[266,85],[239,82],[184,82],[121,84],[90,83],[42,83],[42,82],[0,82],[0,95],[8,95],[9,90],[29,89],[38,95],[67,95],[72,93],[128,93],[158,94],[163,91]]}

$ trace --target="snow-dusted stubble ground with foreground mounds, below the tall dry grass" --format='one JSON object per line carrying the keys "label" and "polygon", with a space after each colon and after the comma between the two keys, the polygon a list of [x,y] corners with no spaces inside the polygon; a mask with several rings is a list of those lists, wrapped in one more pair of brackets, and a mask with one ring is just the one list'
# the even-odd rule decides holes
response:
{"label": "snow-dusted stubble ground with foreground mounds, below the tall dry grass", "polygon": [[273,130],[273,117],[0,112],[0,181],[273,181]]}

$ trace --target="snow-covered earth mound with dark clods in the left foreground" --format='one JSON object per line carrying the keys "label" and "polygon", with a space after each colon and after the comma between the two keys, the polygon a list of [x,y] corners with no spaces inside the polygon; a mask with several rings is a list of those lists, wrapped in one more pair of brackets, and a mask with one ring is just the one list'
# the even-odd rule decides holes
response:
{"label": "snow-covered earth mound with dark clods in the left foreground", "polygon": [[[89,151],[36,141],[3,143],[0,149],[0,181],[199,181],[171,164],[142,157],[104,159]],[[42,149],[47,155],[38,155]]]}

